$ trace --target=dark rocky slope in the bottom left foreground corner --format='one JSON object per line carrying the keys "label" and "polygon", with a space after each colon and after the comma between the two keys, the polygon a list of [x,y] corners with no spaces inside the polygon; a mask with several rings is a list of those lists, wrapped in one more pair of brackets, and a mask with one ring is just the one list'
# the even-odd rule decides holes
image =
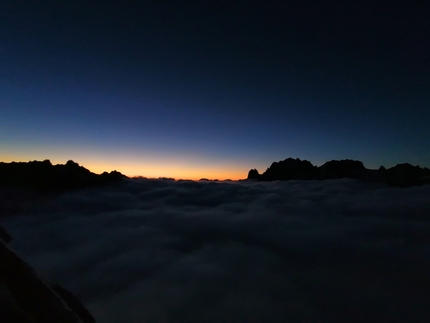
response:
{"label": "dark rocky slope in the bottom left foreground corner", "polygon": [[[0,239],[0,322],[94,323],[69,291],[48,282]],[[9,238],[10,236],[7,235]],[[10,239],[9,239],[10,240]]]}

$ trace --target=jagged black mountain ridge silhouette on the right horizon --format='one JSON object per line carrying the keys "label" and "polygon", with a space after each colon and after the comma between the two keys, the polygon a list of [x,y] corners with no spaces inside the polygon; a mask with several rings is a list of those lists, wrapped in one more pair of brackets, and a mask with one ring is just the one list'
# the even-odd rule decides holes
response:
{"label": "jagged black mountain ridge silhouette on the right horizon", "polygon": [[430,169],[398,164],[386,169],[381,166],[378,170],[367,169],[358,160],[332,160],[317,167],[307,160],[287,158],[274,162],[263,174],[251,169],[248,179],[261,181],[287,181],[309,179],[339,179],[354,178],[368,182],[384,182],[390,186],[408,187],[430,183]]}

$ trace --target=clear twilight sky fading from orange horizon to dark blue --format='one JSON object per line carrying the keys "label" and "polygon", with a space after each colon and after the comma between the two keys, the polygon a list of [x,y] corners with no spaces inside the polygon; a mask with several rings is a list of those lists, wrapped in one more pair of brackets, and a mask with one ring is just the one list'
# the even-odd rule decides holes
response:
{"label": "clear twilight sky fading from orange horizon to dark blue", "polygon": [[430,166],[425,1],[2,1],[0,160]]}

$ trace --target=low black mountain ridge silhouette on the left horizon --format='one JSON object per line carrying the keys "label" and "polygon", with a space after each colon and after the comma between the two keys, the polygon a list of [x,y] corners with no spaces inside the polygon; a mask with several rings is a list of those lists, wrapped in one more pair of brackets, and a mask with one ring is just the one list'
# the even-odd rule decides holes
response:
{"label": "low black mountain ridge silhouette on the left horizon", "polygon": [[52,165],[49,160],[2,163],[0,186],[62,192],[108,185],[125,178],[120,172],[90,172],[72,160],[65,165]]}

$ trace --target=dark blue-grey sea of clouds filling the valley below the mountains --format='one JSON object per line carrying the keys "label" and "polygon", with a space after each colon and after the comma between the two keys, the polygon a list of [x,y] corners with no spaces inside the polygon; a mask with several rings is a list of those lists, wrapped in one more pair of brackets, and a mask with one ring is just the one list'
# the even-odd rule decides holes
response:
{"label": "dark blue-grey sea of clouds filling the valley below the mountains", "polygon": [[98,323],[428,322],[430,186],[127,179],[3,218]]}

